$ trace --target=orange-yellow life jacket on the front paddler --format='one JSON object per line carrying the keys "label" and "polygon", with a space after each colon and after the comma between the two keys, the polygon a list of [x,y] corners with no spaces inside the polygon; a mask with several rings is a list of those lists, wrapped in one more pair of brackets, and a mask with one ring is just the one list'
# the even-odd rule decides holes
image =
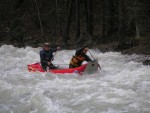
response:
{"label": "orange-yellow life jacket on the front paddler", "polygon": [[70,61],[70,64],[75,66],[75,67],[78,67],[78,66],[81,66],[81,64],[84,60],[85,60],[85,57],[82,55],[73,56],[73,58]]}

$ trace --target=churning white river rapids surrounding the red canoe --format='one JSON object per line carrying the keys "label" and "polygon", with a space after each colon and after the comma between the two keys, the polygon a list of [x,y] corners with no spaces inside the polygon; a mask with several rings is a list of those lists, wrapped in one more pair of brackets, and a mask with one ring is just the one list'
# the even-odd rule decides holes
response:
{"label": "churning white river rapids surrounding the red canoe", "polygon": [[[91,50],[102,68],[95,74],[28,72],[39,51],[0,47],[0,113],[150,113],[147,56]],[[74,52],[57,52],[54,64],[68,64]]]}

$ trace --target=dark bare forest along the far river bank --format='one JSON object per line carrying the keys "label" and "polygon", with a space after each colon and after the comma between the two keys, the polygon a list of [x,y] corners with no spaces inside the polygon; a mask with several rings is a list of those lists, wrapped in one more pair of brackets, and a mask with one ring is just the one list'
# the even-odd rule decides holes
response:
{"label": "dark bare forest along the far river bank", "polygon": [[0,43],[150,54],[150,0],[0,0]]}

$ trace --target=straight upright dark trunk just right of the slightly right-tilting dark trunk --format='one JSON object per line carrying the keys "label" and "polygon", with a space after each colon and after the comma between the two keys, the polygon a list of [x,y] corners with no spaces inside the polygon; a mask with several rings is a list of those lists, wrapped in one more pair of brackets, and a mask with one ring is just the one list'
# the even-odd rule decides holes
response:
{"label": "straight upright dark trunk just right of the slightly right-tilting dark trunk", "polygon": [[80,36],[80,0],[76,0],[76,40]]}

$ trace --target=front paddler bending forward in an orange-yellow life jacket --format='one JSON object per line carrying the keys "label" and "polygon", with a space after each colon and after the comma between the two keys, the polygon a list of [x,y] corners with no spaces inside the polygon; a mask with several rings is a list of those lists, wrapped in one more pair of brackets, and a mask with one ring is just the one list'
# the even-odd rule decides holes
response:
{"label": "front paddler bending forward in an orange-yellow life jacket", "polygon": [[72,57],[70,64],[69,64],[69,68],[76,68],[82,65],[83,61],[92,61],[88,55],[86,55],[87,51],[89,49],[84,46],[78,50],[76,50],[75,55]]}

